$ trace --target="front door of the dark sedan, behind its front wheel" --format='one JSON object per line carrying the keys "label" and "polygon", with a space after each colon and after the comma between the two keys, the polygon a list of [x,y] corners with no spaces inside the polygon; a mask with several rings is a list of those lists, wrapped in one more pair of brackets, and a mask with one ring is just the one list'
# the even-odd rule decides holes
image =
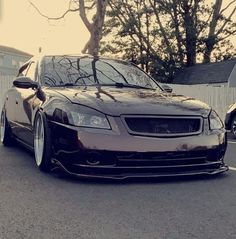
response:
{"label": "front door of the dark sedan, behind its front wheel", "polygon": [[[37,80],[37,61],[30,62],[25,76]],[[36,98],[35,89],[16,88],[16,136],[31,147],[33,147],[32,105]]]}

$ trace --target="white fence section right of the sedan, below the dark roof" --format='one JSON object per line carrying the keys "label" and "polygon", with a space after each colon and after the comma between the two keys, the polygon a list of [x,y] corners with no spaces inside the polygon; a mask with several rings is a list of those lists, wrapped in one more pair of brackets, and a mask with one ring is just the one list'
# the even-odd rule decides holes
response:
{"label": "white fence section right of the sedan, below the dark roof", "polygon": [[236,102],[236,88],[228,85],[169,85],[173,92],[199,99],[209,104],[224,120],[229,105]]}

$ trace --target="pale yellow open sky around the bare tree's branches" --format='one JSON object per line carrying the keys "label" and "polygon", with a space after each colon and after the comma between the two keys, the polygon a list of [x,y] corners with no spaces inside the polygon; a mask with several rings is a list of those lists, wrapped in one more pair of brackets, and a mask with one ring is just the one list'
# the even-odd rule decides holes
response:
{"label": "pale yellow open sky around the bare tree's branches", "polygon": [[[42,13],[57,17],[68,8],[68,0],[31,0]],[[211,1],[211,0],[206,0]],[[230,0],[224,0],[224,4]],[[236,20],[236,14],[234,16]],[[0,0],[0,45],[37,54],[80,53],[89,39],[79,13],[69,13],[64,20],[48,21],[29,4],[29,0]],[[236,36],[232,39],[236,45]]]}

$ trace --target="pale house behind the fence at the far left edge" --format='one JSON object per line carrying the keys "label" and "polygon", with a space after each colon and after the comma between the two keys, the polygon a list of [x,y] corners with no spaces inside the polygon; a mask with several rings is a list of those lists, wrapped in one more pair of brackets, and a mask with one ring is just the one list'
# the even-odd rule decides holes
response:
{"label": "pale house behind the fence at the far left edge", "polygon": [[17,75],[19,67],[31,57],[31,54],[18,49],[0,46],[0,77]]}

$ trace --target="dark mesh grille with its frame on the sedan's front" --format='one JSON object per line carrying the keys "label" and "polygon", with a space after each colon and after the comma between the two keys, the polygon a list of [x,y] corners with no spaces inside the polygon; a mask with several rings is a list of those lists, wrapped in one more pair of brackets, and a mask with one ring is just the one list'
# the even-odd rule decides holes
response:
{"label": "dark mesh grille with its frame on the sedan's front", "polygon": [[124,116],[128,132],[147,136],[186,136],[202,132],[202,117]]}

